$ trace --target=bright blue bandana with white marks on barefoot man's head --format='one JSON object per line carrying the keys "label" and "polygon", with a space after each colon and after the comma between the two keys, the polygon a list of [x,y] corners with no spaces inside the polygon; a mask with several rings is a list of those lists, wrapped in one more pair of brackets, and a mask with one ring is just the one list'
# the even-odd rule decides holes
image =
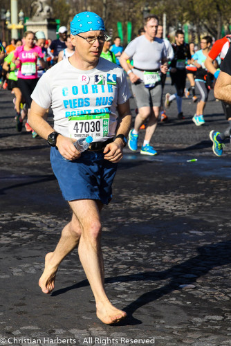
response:
{"label": "bright blue bandana with white marks on barefoot man's head", "polygon": [[72,35],[92,30],[105,30],[104,21],[94,12],[77,13],[71,21],[70,28]]}

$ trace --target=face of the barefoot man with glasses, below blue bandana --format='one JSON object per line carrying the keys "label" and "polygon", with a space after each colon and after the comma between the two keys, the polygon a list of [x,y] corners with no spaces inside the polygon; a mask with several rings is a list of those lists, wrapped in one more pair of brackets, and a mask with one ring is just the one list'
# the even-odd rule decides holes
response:
{"label": "face of the barefoot man with glasses, below blue bandana", "polygon": [[[93,39],[94,37],[104,36],[104,31],[102,30],[92,30],[86,33],[80,33],[80,36],[86,38],[89,37]],[[93,44],[89,44],[86,39],[83,39],[77,35],[71,35],[71,42],[75,46],[75,52],[77,56],[84,62],[95,63],[99,60],[100,54],[102,53],[102,48],[104,42],[100,43],[98,39],[95,39]]]}

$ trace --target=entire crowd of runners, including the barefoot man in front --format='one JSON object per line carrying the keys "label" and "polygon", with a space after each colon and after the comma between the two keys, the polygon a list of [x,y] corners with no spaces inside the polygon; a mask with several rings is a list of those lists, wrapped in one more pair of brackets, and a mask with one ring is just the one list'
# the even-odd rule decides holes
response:
{"label": "entire crowd of runners, including the barefoot man in front", "polygon": [[[41,136],[50,145],[51,167],[73,212],[57,246],[46,254],[39,279],[41,291],[53,291],[59,264],[78,248],[95,297],[96,314],[111,325],[126,318],[127,312],[115,307],[105,291],[100,212],[111,201],[111,185],[127,137],[129,149],[136,152],[140,127],[145,125],[140,154],[156,155],[150,142],[159,116],[166,121],[166,109],[176,100],[178,119],[183,121],[182,98],[189,98],[192,91],[193,101],[198,102],[192,122],[203,125],[207,95],[216,82],[219,88],[215,84],[214,95],[225,101],[223,107],[229,121],[224,134],[210,132],[214,154],[221,156],[223,140],[231,133],[230,37],[214,46],[210,36],[202,37],[201,49],[194,52],[194,45],[185,43],[182,30],[176,31],[174,44],[169,44],[162,38],[158,17],[149,15],[138,37],[123,50],[120,37],[115,37],[111,45],[104,21],[93,12],[75,15],[70,28],[68,37],[67,28],[61,26],[59,39],[53,42],[48,42],[41,31],[27,31],[22,40],[10,42],[6,49],[1,46],[3,86],[7,84],[15,95],[17,131],[22,130],[25,119],[26,131],[31,131],[34,138]],[[228,57],[221,66],[222,78],[218,78],[219,55],[221,59]],[[166,93],[163,102],[168,71],[176,93]],[[189,89],[185,89],[187,75]],[[129,80],[137,104],[132,129]],[[53,125],[46,121],[49,107]],[[89,136],[89,131],[93,141],[80,152],[75,142]]]}

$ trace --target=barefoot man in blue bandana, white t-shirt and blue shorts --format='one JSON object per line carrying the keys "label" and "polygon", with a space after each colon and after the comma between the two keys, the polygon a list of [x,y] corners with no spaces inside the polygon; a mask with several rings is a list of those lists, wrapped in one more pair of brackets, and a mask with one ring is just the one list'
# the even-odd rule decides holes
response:
{"label": "barefoot man in blue bandana, white t-shirt and blue shorts", "polygon": [[[107,39],[104,30],[104,22],[95,13],[75,15],[71,21],[75,53],[42,75],[32,95],[29,122],[51,146],[53,171],[73,211],[55,251],[46,255],[39,286],[50,293],[59,264],[78,247],[97,316],[111,324],[127,314],[111,304],[104,290],[100,211],[111,200],[116,166],[127,143],[131,94],[122,69],[100,57]],[[54,127],[43,118],[50,104]],[[73,142],[88,135],[93,143],[80,154]]]}

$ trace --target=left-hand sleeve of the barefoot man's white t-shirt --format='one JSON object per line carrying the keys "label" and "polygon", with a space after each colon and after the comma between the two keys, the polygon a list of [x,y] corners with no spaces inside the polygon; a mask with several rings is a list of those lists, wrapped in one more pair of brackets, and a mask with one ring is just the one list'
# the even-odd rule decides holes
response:
{"label": "left-hand sleeve of the barefoot man's white t-shirt", "polygon": [[51,86],[49,73],[46,72],[41,76],[35,86],[31,98],[42,108],[47,109],[51,104]]}

